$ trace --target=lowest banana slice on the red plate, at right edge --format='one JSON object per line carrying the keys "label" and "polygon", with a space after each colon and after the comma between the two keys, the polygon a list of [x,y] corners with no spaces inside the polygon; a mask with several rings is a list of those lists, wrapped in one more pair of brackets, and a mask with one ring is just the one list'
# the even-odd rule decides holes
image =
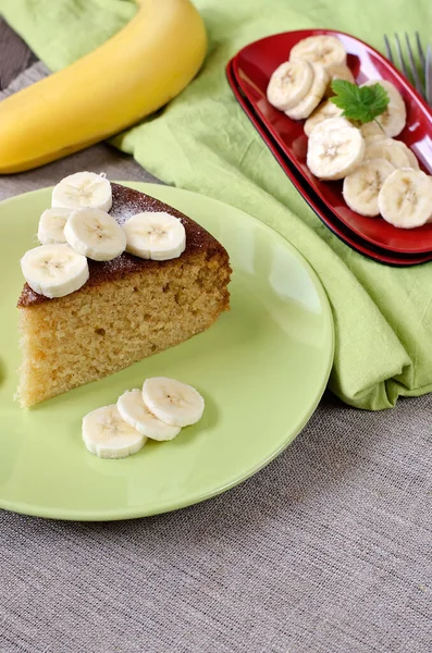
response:
{"label": "lowest banana slice on the red plate, at right edge", "polygon": [[411,168],[395,170],[378,196],[380,213],[400,229],[421,226],[432,220],[432,177]]}

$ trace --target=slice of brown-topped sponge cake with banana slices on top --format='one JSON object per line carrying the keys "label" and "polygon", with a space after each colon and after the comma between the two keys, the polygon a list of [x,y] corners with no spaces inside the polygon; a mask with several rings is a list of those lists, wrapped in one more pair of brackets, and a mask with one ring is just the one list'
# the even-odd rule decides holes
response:
{"label": "slice of brown-topped sponge cake with banana slices on top", "polygon": [[79,197],[74,184],[39,223],[42,246],[22,259],[23,407],[177,345],[230,308],[229,255],[202,226],[119,184],[109,204],[99,188],[91,209],[91,183]]}

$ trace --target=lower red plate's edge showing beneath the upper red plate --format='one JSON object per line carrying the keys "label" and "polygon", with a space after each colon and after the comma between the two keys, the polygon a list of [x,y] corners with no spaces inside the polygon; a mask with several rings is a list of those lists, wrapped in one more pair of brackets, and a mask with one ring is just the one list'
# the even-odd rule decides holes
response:
{"label": "lower red plate's edge showing beneath the upper red plate", "polygon": [[243,91],[240,90],[237,84],[235,73],[233,70],[233,60],[231,60],[226,65],[226,78],[242,109],[244,110],[252,125],[256,127],[257,132],[260,134],[261,138],[269,147],[270,151],[281,165],[282,170],[286,173],[286,175],[292,181],[297,190],[300,193],[300,195],[303,195],[304,199],[308,202],[310,208],[341,241],[343,241],[346,245],[348,245],[348,247],[351,247],[351,249],[355,249],[359,254],[386,266],[418,266],[420,263],[425,263],[432,260],[432,254],[392,254],[390,251],[381,249],[380,247],[375,247],[353,234],[353,232],[349,229],[347,229],[342,222],[340,222],[334,217],[334,214],[331,211],[326,209],[324,202],[320,200],[320,198],[313,193],[310,186],[308,186],[308,184],[305,182],[301,175],[298,174],[293,163],[289,161],[289,159],[287,159],[287,157],[284,156],[282,148],[275,143],[271,134],[264,127],[261,120],[255,113],[251,104],[245,98]]}

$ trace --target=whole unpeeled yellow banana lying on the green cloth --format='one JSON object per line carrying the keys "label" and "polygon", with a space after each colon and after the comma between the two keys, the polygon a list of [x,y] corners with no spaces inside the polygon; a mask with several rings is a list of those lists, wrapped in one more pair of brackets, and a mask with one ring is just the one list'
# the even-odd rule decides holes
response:
{"label": "whole unpeeled yellow banana lying on the green cloth", "polygon": [[196,75],[206,56],[189,0],[138,0],[135,17],[66,69],[0,102],[0,174],[29,170],[149,115]]}

